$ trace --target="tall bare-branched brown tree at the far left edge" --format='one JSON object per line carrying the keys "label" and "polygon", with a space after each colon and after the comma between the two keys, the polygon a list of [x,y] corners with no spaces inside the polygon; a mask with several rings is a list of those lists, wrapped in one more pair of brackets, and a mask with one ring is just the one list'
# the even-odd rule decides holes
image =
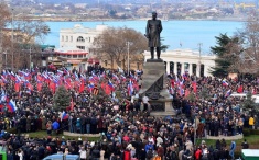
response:
{"label": "tall bare-branched brown tree at the far left edge", "polygon": [[[12,64],[13,54],[13,65],[18,69],[24,66],[24,61],[29,59],[30,52],[23,46],[30,46],[30,50],[35,53],[37,50],[35,46],[43,42],[45,35],[50,32],[50,27],[43,21],[31,21],[23,13],[17,14],[15,9],[11,11],[6,3],[0,3],[0,28],[3,30],[1,34],[2,50],[0,52],[7,53],[7,57],[4,57],[7,64]],[[13,21],[11,12],[13,12]],[[7,28],[7,26],[11,27]]]}

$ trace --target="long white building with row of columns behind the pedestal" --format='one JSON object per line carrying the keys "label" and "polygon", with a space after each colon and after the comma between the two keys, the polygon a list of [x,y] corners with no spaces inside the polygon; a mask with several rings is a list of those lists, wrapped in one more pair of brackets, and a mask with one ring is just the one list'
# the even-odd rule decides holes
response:
{"label": "long white building with row of columns behind the pedestal", "polygon": [[[143,55],[144,61],[151,58],[150,52],[144,52]],[[205,56],[190,49],[175,49],[162,52],[160,58],[164,60],[166,73],[183,75],[187,71],[190,75],[201,77],[212,76],[209,69],[215,67],[216,56]]]}

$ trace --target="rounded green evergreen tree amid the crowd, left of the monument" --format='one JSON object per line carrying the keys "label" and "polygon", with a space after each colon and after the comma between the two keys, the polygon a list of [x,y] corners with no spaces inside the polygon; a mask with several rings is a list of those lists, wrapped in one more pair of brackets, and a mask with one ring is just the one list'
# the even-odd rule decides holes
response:
{"label": "rounded green evergreen tree amid the crowd, left of the monument", "polygon": [[71,94],[64,85],[56,89],[54,95],[54,108],[56,111],[65,111],[71,104]]}

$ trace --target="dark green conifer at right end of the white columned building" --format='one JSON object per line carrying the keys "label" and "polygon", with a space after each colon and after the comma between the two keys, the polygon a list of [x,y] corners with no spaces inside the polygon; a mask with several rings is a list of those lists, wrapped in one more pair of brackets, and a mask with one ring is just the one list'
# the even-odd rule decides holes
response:
{"label": "dark green conifer at right end of the white columned building", "polygon": [[215,59],[216,67],[211,72],[216,77],[226,77],[228,72],[236,72],[236,60],[240,55],[240,47],[237,37],[229,37],[227,34],[219,34],[215,37],[217,45],[211,47],[212,53],[217,56]]}

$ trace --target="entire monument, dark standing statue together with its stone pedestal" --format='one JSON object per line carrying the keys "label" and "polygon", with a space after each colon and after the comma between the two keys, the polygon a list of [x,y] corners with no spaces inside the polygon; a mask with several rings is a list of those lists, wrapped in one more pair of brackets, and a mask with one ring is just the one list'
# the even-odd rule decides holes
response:
{"label": "entire monument, dark standing statue together with its stone pedestal", "polygon": [[[151,59],[148,59],[143,65],[142,88],[139,94],[149,98],[152,108],[151,115],[154,116],[175,115],[172,106],[173,96],[170,95],[165,84],[165,66],[163,59],[160,58],[160,33],[162,30],[162,22],[157,19],[157,13],[153,12],[152,20],[148,20],[145,28]],[[154,48],[157,59],[154,59]]]}

